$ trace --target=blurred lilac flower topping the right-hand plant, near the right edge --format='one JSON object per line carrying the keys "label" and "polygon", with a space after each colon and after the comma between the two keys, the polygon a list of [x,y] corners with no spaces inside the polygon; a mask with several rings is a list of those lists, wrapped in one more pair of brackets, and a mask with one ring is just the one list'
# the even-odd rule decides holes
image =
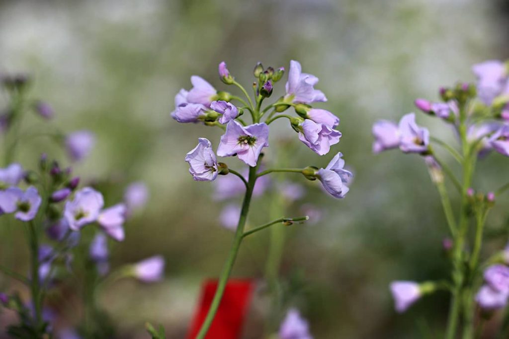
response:
{"label": "blurred lilac flower topping the right-hand plant, near the right edge", "polygon": [[477,96],[486,105],[491,105],[493,99],[502,94],[507,84],[507,70],[504,63],[488,60],[474,65],[472,71],[477,77]]}

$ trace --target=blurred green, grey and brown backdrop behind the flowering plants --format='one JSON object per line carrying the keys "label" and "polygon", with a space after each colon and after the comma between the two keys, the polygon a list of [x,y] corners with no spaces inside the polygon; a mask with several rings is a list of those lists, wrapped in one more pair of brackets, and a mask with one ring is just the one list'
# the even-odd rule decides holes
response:
{"label": "blurred green, grey and brown backdrop behind the flowering plants", "polygon": [[[508,17],[502,0],[0,1],[0,72],[30,73],[33,96],[54,108],[61,130],[96,134],[91,156],[75,171],[107,178],[107,200],[118,200],[128,182],[148,185],[149,204],[126,225],[112,263],[162,254],[166,278],[150,286],[120,282],[101,303],[125,337],[147,337],[143,324],[151,321],[182,338],[200,285],[220,272],[232,232],[220,225],[224,202],[214,198],[214,184],[193,181],[183,161],[198,137],[217,145],[220,130],[171,119],[174,96],[191,87],[191,75],[239,94],[219,81],[222,60],[246,87],[257,61],[288,70],[290,59],[299,60],[329,99],[317,107],[341,119],[343,137],[333,152],[344,153],[355,178],[346,199],[336,200],[319,183],[291,177],[306,194],[288,212],[297,215],[304,204],[322,217],[285,232],[285,305],[300,309],[316,338],[413,338],[443,326],[448,297],[438,293],[397,315],[388,284],[445,277],[447,228],[422,159],[399,151],[373,155],[371,126],[413,111],[417,97],[438,99],[441,85],[474,81],[474,63],[507,58]],[[417,121],[454,144],[440,121],[421,113]],[[330,160],[303,146],[283,119],[272,126],[268,164],[321,167]],[[45,140],[26,140],[24,149],[17,160],[26,168],[43,151],[61,156]],[[227,162],[243,169],[236,159]],[[506,159],[490,155],[479,163],[474,188],[495,190],[508,169]],[[254,202],[250,225],[268,221],[278,179]],[[490,229],[507,225],[507,202],[498,201]],[[247,239],[234,276],[263,279],[269,234]],[[506,240],[496,237],[487,252]],[[13,257],[21,271],[26,253],[19,243]],[[260,337],[265,304],[257,292],[245,338]]]}

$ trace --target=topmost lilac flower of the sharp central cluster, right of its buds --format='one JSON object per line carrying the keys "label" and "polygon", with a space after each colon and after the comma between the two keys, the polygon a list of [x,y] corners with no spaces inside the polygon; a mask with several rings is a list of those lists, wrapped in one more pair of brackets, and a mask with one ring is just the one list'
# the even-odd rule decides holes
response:
{"label": "topmost lilac flower of the sharp central cluster, right of its buds", "polygon": [[313,102],[325,102],[327,98],[321,90],[315,89],[318,78],[314,75],[302,73],[298,61],[290,61],[288,82],[286,83],[286,102],[310,104]]}

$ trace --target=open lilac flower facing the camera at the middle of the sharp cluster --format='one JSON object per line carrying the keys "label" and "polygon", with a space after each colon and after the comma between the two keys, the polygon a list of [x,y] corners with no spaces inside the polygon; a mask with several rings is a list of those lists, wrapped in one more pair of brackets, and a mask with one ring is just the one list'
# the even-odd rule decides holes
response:
{"label": "open lilac flower facing the camera at the middle of the sharp cluster", "polygon": [[237,121],[231,120],[226,127],[226,133],[221,136],[217,155],[230,157],[237,155],[247,165],[253,167],[263,147],[269,146],[269,127],[267,124],[253,124],[243,127]]}

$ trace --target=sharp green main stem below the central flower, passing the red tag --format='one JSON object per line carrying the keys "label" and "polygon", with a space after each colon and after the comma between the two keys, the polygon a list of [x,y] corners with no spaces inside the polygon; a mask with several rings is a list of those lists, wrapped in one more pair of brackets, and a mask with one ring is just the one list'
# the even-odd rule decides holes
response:
{"label": "sharp green main stem below the central flower, passing the red tag", "polygon": [[235,231],[235,237],[233,239],[232,247],[230,249],[228,259],[227,259],[227,261],[223,267],[223,270],[221,272],[221,275],[219,277],[216,293],[214,295],[214,298],[212,299],[212,303],[210,305],[209,312],[207,313],[207,317],[205,318],[205,321],[203,322],[202,327],[200,328],[200,331],[198,332],[198,335],[196,335],[196,339],[204,339],[205,335],[207,335],[210,325],[212,324],[212,321],[214,320],[214,317],[216,315],[217,309],[219,307],[219,303],[221,302],[221,299],[222,299],[222,296],[224,293],[224,289],[228,282],[228,278],[230,277],[230,273],[232,272],[232,268],[235,263],[235,259],[237,258],[237,253],[239,252],[240,244],[242,242],[242,239],[244,238],[244,226],[246,224],[247,213],[249,211],[249,205],[251,203],[251,196],[253,193],[254,183],[257,180],[256,172],[257,172],[257,166],[249,168],[249,179],[248,179],[247,190],[246,190],[246,194],[244,196],[244,201],[242,203],[242,209],[240,212],[239,223],[237,224],[237,230]]}

